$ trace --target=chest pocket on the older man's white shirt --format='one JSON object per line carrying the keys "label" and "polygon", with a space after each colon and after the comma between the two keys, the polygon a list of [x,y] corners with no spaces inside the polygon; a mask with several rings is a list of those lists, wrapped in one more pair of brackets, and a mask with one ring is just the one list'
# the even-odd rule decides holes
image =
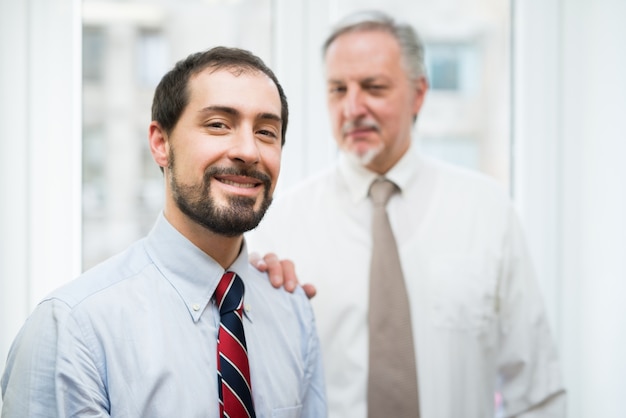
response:
{"label": "chest pocket on the older man's white shirt", "polygon": [[431,319],[439,327],[480,331],[496,316],[497,262],[466,255],[429,261]]}

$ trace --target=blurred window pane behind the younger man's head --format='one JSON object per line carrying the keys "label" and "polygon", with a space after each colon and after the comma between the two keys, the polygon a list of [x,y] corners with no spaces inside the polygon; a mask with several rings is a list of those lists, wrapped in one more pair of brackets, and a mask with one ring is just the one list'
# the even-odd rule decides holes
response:
{"label": "blurred window pane behind the younger man's head", "polygon": [[[163,205],[148,149],[156,84],[216,45],[270,62],[271,0],[83,1],[83,268],[143,236]],[[245,28],[245,30],[242,30]]]}

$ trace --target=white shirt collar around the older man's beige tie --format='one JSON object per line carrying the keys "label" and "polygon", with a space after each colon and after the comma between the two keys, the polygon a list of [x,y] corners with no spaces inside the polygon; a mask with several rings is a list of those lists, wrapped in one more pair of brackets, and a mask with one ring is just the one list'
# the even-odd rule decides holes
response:
{"label": "white shirt collar around the older man's beige tie", "polygon": [[[400,188],[400,193],[402,194],[402,191],[408,187],[411,179],[417,175],[418,168],[419,155],[413,142],[411,142],[407,152],[404,153],[396,165],[384,177],[394,182]],[[382,177],[368,170],[343,151],[340,153],[339,158],[339,173],[345,180],[354,202],[367,199],[372,181],[377,177]]]}

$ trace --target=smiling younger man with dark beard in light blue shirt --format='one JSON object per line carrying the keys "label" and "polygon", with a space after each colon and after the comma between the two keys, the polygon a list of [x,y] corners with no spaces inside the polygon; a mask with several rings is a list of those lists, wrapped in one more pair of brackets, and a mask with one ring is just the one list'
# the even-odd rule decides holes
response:
{"label": "smiling younger man with dark beard in light blue shirt", "polygon": [[308,300],[251,267],[242,235],[280,169],[278,80],[249,52],[214,48],[163,77],[152,114],[163,213],[37,306],[8,356],[2,416],[325,416]]}

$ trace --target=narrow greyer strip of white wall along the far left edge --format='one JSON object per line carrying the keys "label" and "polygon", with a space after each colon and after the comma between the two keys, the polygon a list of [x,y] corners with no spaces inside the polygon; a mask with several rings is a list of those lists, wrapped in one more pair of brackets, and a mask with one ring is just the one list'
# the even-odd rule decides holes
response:
{"label": "narrow greyer strip of white wall along the far left edge", "polygon": [[0,364],[29,307],[26,11],[0,2]]}

